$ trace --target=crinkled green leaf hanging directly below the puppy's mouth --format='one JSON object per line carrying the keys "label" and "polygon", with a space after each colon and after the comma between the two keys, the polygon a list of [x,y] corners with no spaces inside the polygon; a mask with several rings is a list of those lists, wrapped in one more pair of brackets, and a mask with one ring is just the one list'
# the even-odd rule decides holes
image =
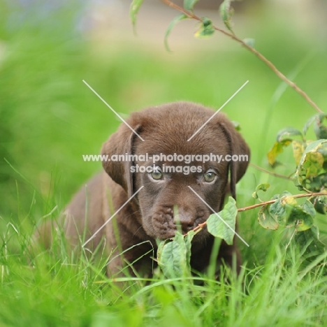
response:
{"label": "crinkled green leaf hanging directly below the puppy's mouth", "polygon": [[157,259],[163,275],[168,278],[187,275],[187,246],[183,235],[176,232],[172,241],[163,241],[161,244],[163,245],[159,245]]}

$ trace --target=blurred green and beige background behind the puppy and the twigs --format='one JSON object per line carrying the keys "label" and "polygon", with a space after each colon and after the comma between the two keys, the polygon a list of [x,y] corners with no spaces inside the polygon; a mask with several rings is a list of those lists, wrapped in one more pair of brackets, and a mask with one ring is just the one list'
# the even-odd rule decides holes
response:
{"label": "blurred green and beige background behind the puppy and the twigs", "polygon": [[[218,4],[207,10],[200,3],[198,15],[222,27]],[[314,115],[234,41],[218,33],[195,39],[193,21],[177,24],[169,39],[173,52],[166,52],[163,36],[178,13],[160,1],[144,1],[134,35],[129,4],[0,1],[0,228],[13,222],[31,233],[41,217],[57,205],[51,215],[56,217],[101,170],[101,163],[84,162],[82,154],[98,154],[120,122],[82,80],[125,115],[177,100],[218,109],[249,80],[223,111],[240,123],[252,162],[263,168],[277,131],[301,129]],[[256,49],[326,110],[326,3],[245,0],[236,9],[235,33],[255,38]],[[291,149],[282,161],[277,172],[289,175]],[[259,182],[272,184],[267,199],[284,189],[297,192],[291,182],[249,168],[238,187],[239,207],[254,203],[251,194]],[[252,255],[264,255],[262,240],[269,240],[269,232],[258,226],[255,212],[241,215],[240,234],[256,244]]]}

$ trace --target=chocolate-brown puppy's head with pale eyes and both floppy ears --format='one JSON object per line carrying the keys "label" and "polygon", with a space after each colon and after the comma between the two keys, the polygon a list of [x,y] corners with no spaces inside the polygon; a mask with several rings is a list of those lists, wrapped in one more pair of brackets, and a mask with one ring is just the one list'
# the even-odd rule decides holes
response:
{"label": "chocolate-brown puppy's head with pale eyes and both floppy ears", "polygon": [[210,207],[221,210],[228,190],[235,198],[235,184],[249,163],[244,160],[249,159],[249,147],[225,115],[177,102],[135,112],[127,123],[138,135],[122,124],[102,154],[131,160],[103,161],[103,168],[128,197],[143,186],[133,201],[147,235],[171,238],[177,225],[186,233],[208,219]]}

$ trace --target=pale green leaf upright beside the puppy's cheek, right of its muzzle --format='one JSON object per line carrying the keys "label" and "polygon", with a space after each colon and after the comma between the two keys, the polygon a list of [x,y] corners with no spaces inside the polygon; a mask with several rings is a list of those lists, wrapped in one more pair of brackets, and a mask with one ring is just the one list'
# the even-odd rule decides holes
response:
{"label": "pale green leaf upright beside the puppy's cheek, right of its muzzle", "polygon": [[236,208],[235,200],[229,196],[228,203],[226,203],[224,209],[218,212],[217,215],[213,214],[208,218],[208,232],[216,238],[222,238],[228,245],[232,245],[237,215],[238,208]]}

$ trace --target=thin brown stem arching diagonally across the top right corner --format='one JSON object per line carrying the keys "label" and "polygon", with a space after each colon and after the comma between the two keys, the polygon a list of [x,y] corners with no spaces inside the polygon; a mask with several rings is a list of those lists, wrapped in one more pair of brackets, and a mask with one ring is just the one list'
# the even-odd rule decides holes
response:
{"label": "thin brown stem arching diagonally across the top right corner", "polygon": [[[161,1],[163,3],[166,3],[167,6],[174,8],[174,9],[180,11],[181,13],[184,13],[184,15],[187,15],[187,17],[192,18],[194,20],[198,20],[199,22],[202,22],[202,19],[200,17],[194,15],[194,13],[191,13],[191,11],[185,10],[184,8],[178,6],[176,3],[173,3],[170,0],[161,0]],[[281,73],[271,61],[269,61],[266,57],[264,57],[263,54],[261,54],[259,51],[257,51],[256,49],[254,49],[253,47],[251,47],[250,45],[245,43],[245,41],[242,41],[240,38],[238,38],[234,34],[228,33],[228,31],[224,31],[224,29],[219,29],[219,27],[213,26],[213,28],[216,31],[221,32],[222,34],[225,34],[226,36],[233,38],[233,40],[240,43],[243,47],[247,48],[247,50],[252,52],[256,57],[258,57],[261,61],[263,61],[281,80],[286,82],[292,89],[294,89],[296,92],[298,92],[298,94],[303,96],[305,101],[307,101],[307,103],[309,103],[310,106],[312,106],[315,110],[317,110],[317,112],[323,112],[317,106],[317,103],[314,103],[314,101],[312,101],[312,99],[310,99],[310,97],[302,89],[300,89],[300,87],[298,87],[298,85],[296,85],[296,83],[294,83],[291,80],[289,80],[288,78],[286,78],[286,76],[283,73]]]}

